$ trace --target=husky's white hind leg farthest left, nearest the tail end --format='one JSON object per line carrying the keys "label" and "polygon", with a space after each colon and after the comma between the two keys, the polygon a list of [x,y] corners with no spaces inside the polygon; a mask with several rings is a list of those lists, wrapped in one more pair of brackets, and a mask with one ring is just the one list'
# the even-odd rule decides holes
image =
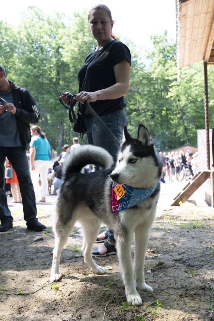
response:
{"label": "husky's white hind leg farthest left, nearest the tail end", "polygon": [[66,224],[58,227],[59,223],[56,222],[55,230],[55,246],[53,249],[53,261],[51,267],[50,281],[59,281],[59,261],[61,257],[61,252],[66,244],[69,233],[73,230],[75,220],[67,222]]}

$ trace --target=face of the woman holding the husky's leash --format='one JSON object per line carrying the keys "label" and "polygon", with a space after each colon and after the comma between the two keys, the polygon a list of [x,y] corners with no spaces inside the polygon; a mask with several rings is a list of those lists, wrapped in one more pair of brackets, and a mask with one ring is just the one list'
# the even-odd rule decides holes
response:
{"label": "face of the woman holding the husky's leash", "polygon": [[111,29],[114,22],[110,21],[106,10],[93,10],[88,21],[93,37],[98,42],[104,42],[111,37]]}

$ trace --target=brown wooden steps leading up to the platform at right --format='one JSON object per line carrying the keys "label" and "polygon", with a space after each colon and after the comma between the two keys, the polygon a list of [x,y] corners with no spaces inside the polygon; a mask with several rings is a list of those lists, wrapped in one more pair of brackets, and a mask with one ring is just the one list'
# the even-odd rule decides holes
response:
{"label": "brown wooden steps leading up to the platform at right", "polygon": [[182,191],[175,196],[174,202],[171,206],[179,206],[179,202],[185,203],[190,196],[195,193],[195,191],[208,179],[210,178],[210,170],[204,170],[203,172],[198,172]]}

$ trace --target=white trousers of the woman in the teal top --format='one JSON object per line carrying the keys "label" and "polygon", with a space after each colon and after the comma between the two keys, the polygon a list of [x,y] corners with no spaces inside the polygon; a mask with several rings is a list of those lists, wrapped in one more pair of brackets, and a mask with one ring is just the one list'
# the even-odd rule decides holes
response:
{"label": "white trousers of the woman in the teal top", "polygon": [[[48,191],[48,169],[49,160],[34,160],[35,169],[31,169],[31,179],[35,192],[36,199],[46,197]],[[42,194],[39,184],[39,175],[41,180]]]}

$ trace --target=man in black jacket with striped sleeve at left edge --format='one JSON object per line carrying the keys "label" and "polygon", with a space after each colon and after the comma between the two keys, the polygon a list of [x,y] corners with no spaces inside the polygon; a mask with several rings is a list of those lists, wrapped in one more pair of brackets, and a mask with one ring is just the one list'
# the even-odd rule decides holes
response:
{"label": "man in black jacket with striped sleeve at left edge", "polygon": [[0,232],[13,227],[4,189],[5,157],[11,162],[19,181],[27,228],[34,231],[46,228],[36,218],[35,194],[25,152],[31,140],[29,124],[37,124],[39,117],[29,91],[8,81],[0,65]]}

